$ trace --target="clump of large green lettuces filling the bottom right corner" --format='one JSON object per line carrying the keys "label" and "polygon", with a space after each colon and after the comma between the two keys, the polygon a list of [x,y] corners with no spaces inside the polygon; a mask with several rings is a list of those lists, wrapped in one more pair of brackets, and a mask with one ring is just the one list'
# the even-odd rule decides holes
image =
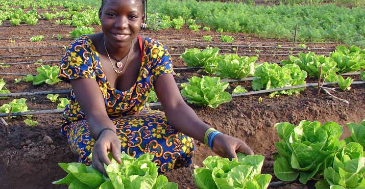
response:
{"label": "clump of large green lettuces filling the bottom right corner", "polygon": [[283,181],[299,177],[303,184],[319,180],[315,187],[365,187],[365,120],[347,124],[351,136],[339,140],[343,127],[335,122],[301,121],[298,126],[278,123],[275,128],[281,141],[275,143],[278,155],[274,174]]}

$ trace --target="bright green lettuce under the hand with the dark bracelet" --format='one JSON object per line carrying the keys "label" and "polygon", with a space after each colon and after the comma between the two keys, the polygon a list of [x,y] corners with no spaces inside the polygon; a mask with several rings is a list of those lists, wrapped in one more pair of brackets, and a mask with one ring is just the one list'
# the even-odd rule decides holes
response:
{"label": "bright green lettuce under the hand with the dark bracelet", "polygon": [[118,164],[109,154],[111,164],[104,165],[109,178],[85,164],[59,163],[68,175],[52,183],[67,184],[69,188],[177,189],[176,183],[168,182],[164,175],[158,176],[156,164],[152,162],[153,156],[145,153],[134,158],[122,153],[121,164]]}

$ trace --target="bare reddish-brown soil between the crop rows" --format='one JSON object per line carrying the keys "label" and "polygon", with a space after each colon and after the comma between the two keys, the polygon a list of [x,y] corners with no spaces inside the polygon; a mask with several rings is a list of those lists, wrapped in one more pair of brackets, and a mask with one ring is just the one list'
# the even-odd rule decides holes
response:
{"label": "bare reddish-brown soil between the crop rows", "polygon": [[[5,25],[5,26],[4,26]],[[53,35],[62,34],[66,36],[69,31],[73,30],[69,26],[59,26],[51,21],[40,20],[40,25],[29,26],[22,24],[17,27],[8,27],[7,21],[0,26],[2,35],[0,38],[0,62],[30,62],[42,60],[60,60],[60,56],[45,57],[22,57],[22,58],[3,58],[8,56],[29,56],[29,55],[45,55],[53,53],[64,53],[63,45],[68,45],[68,38],[64,41],[58,41],[52,38]],[[101,31],[100,27],[96,27],[96,32]],[[191,32],[186,28],[181,31],[163,30],[159,32],[143,31],[143,35],[158,39],[172,48],[180,48],[179,50],[171,49],[172,53],[181,53],[183,48],[198,47],[199,44],[209,44],[202,40],[203,35],[214,36],[213,42],[210,44],[226,44],[219,41],[216,32]],[[30,42],[29,38],[33,35],[47,35],[46,41]],[[290,41],[259,39],[245,34],[227,34],[235,37],[232,46],[225,47],[233,51],[234,45],[254,45],[254,46],[277,46],[281,44],[285,47],[297,47],[290,44]],[[15,43],[10,43],[9,38],[22,37],[15,39]],[[186,46],[178,46],[184,44]],[[231,45],[231,44],[230,44]],[[60,48],[9,48],[9,47],[25,47],[25,46],[61,46]],[[334,48],[336,44],[307,44],[307,47],[324,47]],[[205,46],[199,46],[205,48]],[[223,47],[220,47],[223,48]],[[257,49],[257,50],[256,50]],[[240,51],[241,50],[241,51]],[[242,47],[238,51],[245,53],[244,50],[252,50],[253,53],[272,53],[269,50],[283,50],[289,53],[289,48],[267,48],[267,47]],[[256,50],[256,51],[255,51]],[[296,49],[305,50],[305,49]],[[259,52],[260,51],[260,52]],[[306,50],[308,51],[308,50]],[[319,50],[319,52],[330,52],[331,50]],[[296,52],[297,53],[297,52]],[[295,54],[295,53],[294,53]],[[175,66],[183,66],[183,61],[178,57],[173,57]],[[286,56],[260,56],[259,62],[279,62]],[[44,63],[45,64],[45,63]],[[58,62],[50,63],[57,65]],[[36,73],[35,68],[39,65],[21,64],[12,65],[9,68],[0,67],[0,72],[8,73]],[[186,78],[192,75],[202,75],[197,73],[197,69],[177,70],[181,73],[180,78],[176,78],[177,82],[185,82]],[[65,83],[59,83],[53,86],[41,85],[33,86],[30,83],[20,82],[15,84],[14,78],[22,76],[4,75],[7,82],[6,87],[12,92],[29,92],[29,91],[47,91],[47,90],[63,90],[70,89]],[[356,78],[356,77],[355,77]],[[358,80],[358,78],[357,78]],[[308,80],[314,82],[314,80]],[[249,82],[241,82],[240,85],[251,90]],[[237,84],[231,84],[235,87]],[[230,89],[230,90],[232,90]],[[353,85],[350,91],[340,91],[335,94],[340,98],[344,98],[350,102],[345,104],[332,97],[321,94],[317,95],[314,88],[306,89],[298,96],[280,96],[269,98],[267,94],[252,95],[246,97],[234,97],[231,102],[224,103],[216,109],[210,107],[200,107],[193,104],[190,106],[196,111],[198,116],[207,124],[220,130],[226,134],[237,137],[245,141],[256,154],[265,156],[265,163],[262,172],[273,175],[273,156],[275,150],[274,143],[279,140],[274,124],[278,122],[290,122],[298,124],[301,120],[335,121],[343,126],[347,122],[360,122],[364,119],[365,109],[365,85]],[[67,97],[67,95],[61,95]],[[259,97],[262,102],[259,102]],[[52,103],[45,99],[45,96],[29,96],[27,103],[30,110],[50,110],[56,108],[56,103]],[[0,99],[0,104],[8,103],[12,98]],[[162,110],[162,107],[156,107]],[[66,173],[57,165],[57,163],[70,163],[77,160],[66,145],[66,139],[60,133],[60,114],[43,114],[34,115],[32,120],[37,120],[35,127],[27,126],[23,120],[25,118],[14,118],[6,120],[9,124],[10,134],[7,136],[3,131],[3,125],[0,131],[0,183],[2,188],[66,188],[65,185],[53,185],[52,181],[58,180],[66,175]],[[349,136],[348,130],[344,131],[344,137]],[[52,139],[52,140],[50,140]],[[202,161],[209,155],[214,155],[203,144],[196,143],[196,152],[194,156],[194,165],[202,166]],[[180,188],[197,188],[193,182],[193,169],[184,168],[167,172],[165,175],[169,181],[179,184]],[[273,181],[278,181],[275,176]],[[312,188],[313,184],[307,185],[294,183],[282,186],[281,188]]]}

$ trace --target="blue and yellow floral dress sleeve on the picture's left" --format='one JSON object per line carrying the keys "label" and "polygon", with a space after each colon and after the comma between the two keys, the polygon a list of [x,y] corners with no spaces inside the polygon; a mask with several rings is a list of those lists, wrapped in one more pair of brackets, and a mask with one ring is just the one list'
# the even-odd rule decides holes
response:
{"label": "blue and yellow floral dress sleeve on the picture's left", "polygon": [[70,79],[95,78],[90,44],[82,40],[72,42],[66,50],[58,73],[58,78],[69,83]]}

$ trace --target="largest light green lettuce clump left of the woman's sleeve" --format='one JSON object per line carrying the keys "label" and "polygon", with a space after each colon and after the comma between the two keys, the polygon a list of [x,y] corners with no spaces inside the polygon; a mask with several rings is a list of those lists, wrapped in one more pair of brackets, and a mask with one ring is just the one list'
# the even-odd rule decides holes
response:
{"label": "largest light green lettuce clump left of the woman's sleeve", "polygon": [[48,85],[54,85],[61,80],[57,78],[59,66],[43,65],[37,68],[38,74],[33,76],[28,74],[24,77],[25,82],[33,82],[33,85],[40,85],[46,83]]}

